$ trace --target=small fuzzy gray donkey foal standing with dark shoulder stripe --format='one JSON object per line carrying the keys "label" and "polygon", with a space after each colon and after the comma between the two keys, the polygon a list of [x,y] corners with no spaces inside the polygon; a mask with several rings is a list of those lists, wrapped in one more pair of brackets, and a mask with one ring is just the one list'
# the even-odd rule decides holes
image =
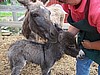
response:
{"label": "small fuzzy gray donkey foal standing with dark shoulder stripe", "polygon": [[29,40],[20,40],[13,43],[8,52],[11,66],[11,75],[19,75],[26,62],[40,65],[42,75],[50,75],[50,69],[63,54],[76,57],[75,40],[72,34],[60,32],[56,43],[36,43]]}

